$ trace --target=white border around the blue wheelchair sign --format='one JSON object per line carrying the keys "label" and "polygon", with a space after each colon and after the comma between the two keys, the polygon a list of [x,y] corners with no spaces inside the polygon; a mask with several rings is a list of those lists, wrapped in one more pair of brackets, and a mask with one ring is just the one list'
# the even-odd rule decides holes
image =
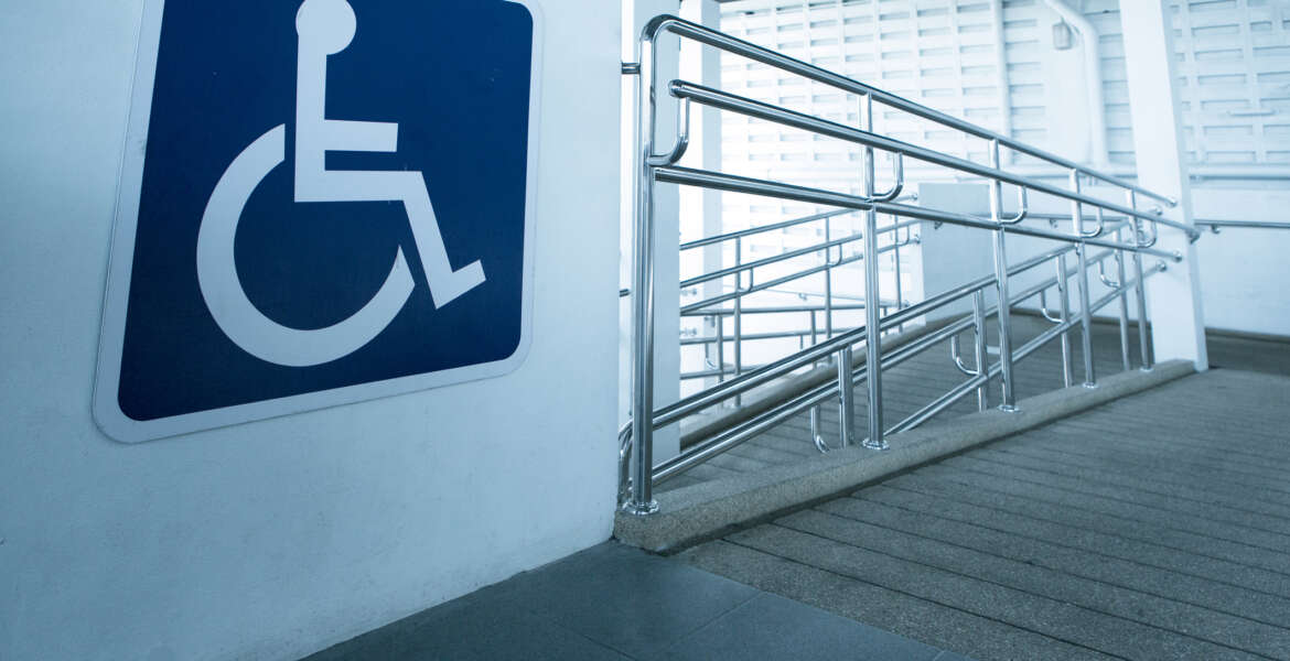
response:
{"label": "white border around the blue wheelchair sign", "polygon": [[254,420],[502,376],[520,367],[528,357],[533,343],[533,253],[535,238],[534,225],[537,222],[538,139],[542,126],[539,121],[543,73],[542,43],[546,30],[541,5],[537,4],[537,0],[507,1],[524,6],[533,18],[533,59],[531,79],[529,82],[529,155],[524,210],[522,309],[520,318],[520,344],[516,350],[507,358],[489,363],[370,381],[156,420],[135,420],[121,411],[119,387],[121,381],[121,357],[125,341],[125,317],[129,305],[130,276],[134,268],[134,238],[138,225],[139,197],[143,187],[143,161],[152,113],[152,91],[156,77],[157,50],[161,41],[161,17],[165,6],[165,0],[144,0],[139,21],[139,45],[135,53],[130,115],[126,126],[124,156],[121,158],[112,245],[107,267],[107,283],[103,294],[98,367],[94,379],[93,417],[104,434],[123,443],[141,443]]}

